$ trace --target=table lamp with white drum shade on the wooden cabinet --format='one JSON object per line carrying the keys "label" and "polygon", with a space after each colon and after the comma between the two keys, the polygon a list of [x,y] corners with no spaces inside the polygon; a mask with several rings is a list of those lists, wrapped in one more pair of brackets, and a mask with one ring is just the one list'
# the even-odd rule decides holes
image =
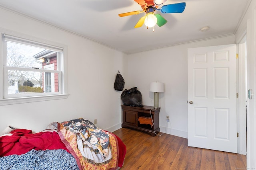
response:
{"label": "table lamp with white drum shade on the wooden cabinet", "polygon": [[154,92],[154,109],[159,108],[159,93],[164,92],[164,83],[151,82],[149,91]]}

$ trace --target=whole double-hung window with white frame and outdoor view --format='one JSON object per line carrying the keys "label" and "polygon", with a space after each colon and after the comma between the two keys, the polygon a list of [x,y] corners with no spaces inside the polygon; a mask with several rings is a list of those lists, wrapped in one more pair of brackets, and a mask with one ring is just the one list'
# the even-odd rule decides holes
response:
{"label": "whole double-hung window with white frame and outdoor view", "polygon": [[1,42],[0,105],[12,104],[14,100],[22,103],[58,99],[56,96],[63,98],[67,94],[63,47],[4,33]]}

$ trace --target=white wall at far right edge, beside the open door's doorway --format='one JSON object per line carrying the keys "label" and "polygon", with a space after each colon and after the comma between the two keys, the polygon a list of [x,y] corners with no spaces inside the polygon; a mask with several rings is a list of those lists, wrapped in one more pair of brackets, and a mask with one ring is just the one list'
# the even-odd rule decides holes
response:
{"label": "white wall at far right edge, beside the open door's doorway", "polygon": [[[236,43],[239,43],[246,33],[247,43],[247,89],[252,89],[256,94],[256,1],[252,0],[250,6],[238,27],[236,33]],[[247,169],[256,168],[256,100],[255,95],[252,99],[247,99]]]}

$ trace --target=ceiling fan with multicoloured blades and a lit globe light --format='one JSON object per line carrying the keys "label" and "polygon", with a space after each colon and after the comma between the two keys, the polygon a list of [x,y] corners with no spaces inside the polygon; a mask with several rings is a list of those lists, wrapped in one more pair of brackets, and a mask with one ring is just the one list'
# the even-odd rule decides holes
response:
{"label": "ceiling fan with multicoloured blades and a lit globe light", "polygon": [[154,27],[154,25],[158,25],[159,27],[162,27],[164,24],[167,23],[167,20],[164,19],[160,14],[154,14],[155,11],[160,11],[162,13],[182,13],[186,7],[186,3],[177,3],[177,4],[168,4],[163,5],[160,9],[158,9],[159,6],[164,4],[166,0],[134,0],[137,2],[141,8],[142,11],[132,11],[132,12],[126,12],[123,14],[118,14],[120,17],[124,16],[131,16],[131,15],[137,15],[142,12],[146,12],[146,15],[140,18],[140,20],[136,23],[134,28],[141,27],[143,23],[149,27]]}

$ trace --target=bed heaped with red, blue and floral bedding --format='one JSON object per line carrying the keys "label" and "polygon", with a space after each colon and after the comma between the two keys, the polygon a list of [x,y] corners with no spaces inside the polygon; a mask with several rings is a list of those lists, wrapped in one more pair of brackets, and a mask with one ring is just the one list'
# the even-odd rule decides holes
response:
{"label": "bed heaped with red, blue and floral bedding", "polygon": [[1,170],[116,170],[126,146],[113,133],[79,118],[38,133],[8,127],[0,134]]}

